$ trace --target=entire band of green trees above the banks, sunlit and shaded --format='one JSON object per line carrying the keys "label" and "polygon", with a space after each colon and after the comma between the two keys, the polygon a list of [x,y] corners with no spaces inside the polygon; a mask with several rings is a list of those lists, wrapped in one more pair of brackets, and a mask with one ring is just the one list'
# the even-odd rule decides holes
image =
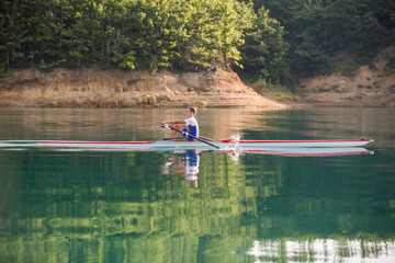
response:
{"label": "entire band of green trees above the banks, sunlit and shaded", "polygon": [[368,64],[394,32],[387,0],[3,0],[0,75],[92,64],[201,70],[214,56],[285,84],[290,72],[330,72],[339,53]]}

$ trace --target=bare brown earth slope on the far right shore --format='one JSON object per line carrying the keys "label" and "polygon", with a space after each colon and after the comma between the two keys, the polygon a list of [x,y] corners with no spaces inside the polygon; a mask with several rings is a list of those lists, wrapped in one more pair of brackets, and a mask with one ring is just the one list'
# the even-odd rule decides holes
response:
{"label": "bare brown earth slope on the far right shore", "polygon": [[370,66],[345,76],[332,73],[303,81],[301,93],[309,103],[341,106],[395,106],[395,46],[381,52]]}

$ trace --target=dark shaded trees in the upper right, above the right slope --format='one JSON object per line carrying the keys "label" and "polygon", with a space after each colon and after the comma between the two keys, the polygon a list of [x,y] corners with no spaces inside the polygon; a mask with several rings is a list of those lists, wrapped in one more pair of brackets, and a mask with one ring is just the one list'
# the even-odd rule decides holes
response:
{"label": "dark shaded trees in the upper right, above the right slope", "polygon": [[[290,43],[287,61],[296,77],[330,72],[328,57],[347,50],[368,64],[393,43],[395,5],[386,0],[255,0],[279,20]],[[330,59],[329,59],[330,60]]]}

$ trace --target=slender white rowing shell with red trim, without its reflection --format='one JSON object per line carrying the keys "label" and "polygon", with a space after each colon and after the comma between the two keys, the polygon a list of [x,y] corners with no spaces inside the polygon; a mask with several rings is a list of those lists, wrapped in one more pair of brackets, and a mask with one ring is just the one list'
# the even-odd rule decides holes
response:
{"label": "slender white rowing shell with red trim, without its reflection", "polygon": [[[311,147],[361,147],[373,140],[211,140],[210,144],[226,149],[241,147],[242,149],[262,148],[311,148]],[[66,141],[66,140],[5,140],[0,141],[0,147],[63,147],[63,148],[125,148],[139,150],[155,149],[213,149],[204,141],[188,140],[156,140],[156,141]]]}

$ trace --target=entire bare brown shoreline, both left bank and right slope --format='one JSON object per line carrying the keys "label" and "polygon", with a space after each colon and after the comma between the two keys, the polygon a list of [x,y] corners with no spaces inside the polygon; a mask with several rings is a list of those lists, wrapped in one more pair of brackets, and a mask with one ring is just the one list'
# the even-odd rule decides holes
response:
{"label": "entire bare brown shoreline, both left bank and right slope", "polygon": [[[275,100],[275,90],[259,94],[237,73],[218,70],[174,73],[84,68],[81,70],[11,70],[0,81],[0,107],[160,108],[240,107],[395,107],[395,70],[387,64],[395,46],[379,54],[371,66],[342,75],[305,79],[298,99]],[[395,58],[394,58],[395,59]],[[274,99],[271,99],[274,98]]]}

